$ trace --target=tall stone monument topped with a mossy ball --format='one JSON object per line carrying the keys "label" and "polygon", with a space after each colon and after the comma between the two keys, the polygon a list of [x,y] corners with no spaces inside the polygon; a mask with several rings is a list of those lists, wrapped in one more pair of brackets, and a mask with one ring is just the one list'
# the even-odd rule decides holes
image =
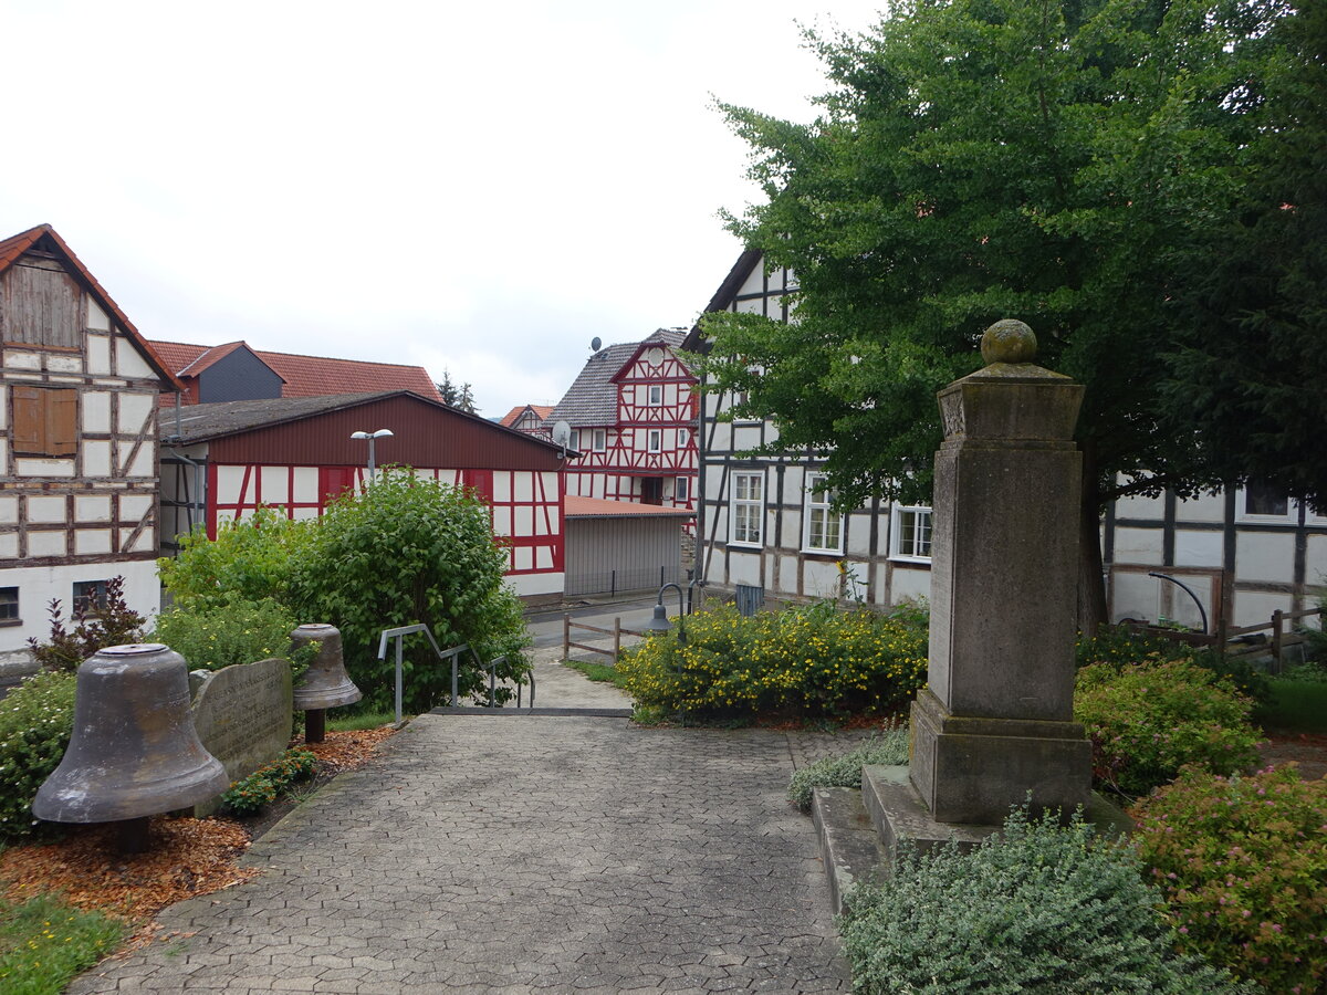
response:
{"label": "tall stone monument topped with a mossy ball", "polygon": [[909,765],[938,823],[998,825],[1028,792],[1067,816],[1091,796],[1074,722],[1083,387],[1035,356],[1027,325],[999,321],[986,367],[940,391],[929,686]]}

